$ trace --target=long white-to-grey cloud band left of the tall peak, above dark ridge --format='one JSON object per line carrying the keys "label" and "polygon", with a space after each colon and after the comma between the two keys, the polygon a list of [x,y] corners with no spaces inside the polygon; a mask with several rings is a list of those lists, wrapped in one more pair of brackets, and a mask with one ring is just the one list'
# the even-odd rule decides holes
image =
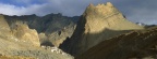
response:
{"label": "long white-to-grey cloud band left of the tall peak, above dark ridge", "polygon": [[[37,14],[39,16],[49,13],[62,13],[67,16],[75,16],[83,14],[84,10],[89,3],[98,3],[101,0],[40,0],[46,3],[43,4],[29,4],[32,0],[15,0],[16,3],[29,4],[27,6],[16,6],[14,4],[0,3],[0,13],[7,15],[29,15]],[[102,2],[101,2],[102,3]],[[2,9],[2,10],[1,10]]]}

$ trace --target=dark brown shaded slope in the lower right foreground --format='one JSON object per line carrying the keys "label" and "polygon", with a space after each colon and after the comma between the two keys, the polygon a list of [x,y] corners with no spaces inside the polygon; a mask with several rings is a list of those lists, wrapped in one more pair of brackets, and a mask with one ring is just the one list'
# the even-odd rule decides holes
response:
{"label": "dark brown shaded slope in the lower right foreground", "polygon": [[104,41],[75,59],[156,59],[157,27]]}

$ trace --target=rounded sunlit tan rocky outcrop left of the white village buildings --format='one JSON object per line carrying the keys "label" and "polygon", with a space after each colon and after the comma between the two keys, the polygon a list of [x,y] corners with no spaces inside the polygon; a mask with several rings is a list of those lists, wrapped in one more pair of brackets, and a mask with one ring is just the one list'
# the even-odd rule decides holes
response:
{"label": "rounded sunlit tan rocky outcrop left of the white village buildings", "polygon": [[12,34],[17,38],[17,41],[27,42],[27,44],[33,46],[40,46],[38,33],[35,29],[29,29],[26,24],[15,23],[12,25]]}

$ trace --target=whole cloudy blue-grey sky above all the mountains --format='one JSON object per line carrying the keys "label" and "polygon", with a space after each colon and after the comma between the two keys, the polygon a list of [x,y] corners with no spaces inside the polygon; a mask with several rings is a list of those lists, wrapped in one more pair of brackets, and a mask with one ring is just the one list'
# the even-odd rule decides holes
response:
{"label": "whole cloudy blue-grey sky above all the mountains", "polygon": [[80,16],[89,3],[111,2],[133,23],[157,25],[157,0],[0,0],[0,14]]}

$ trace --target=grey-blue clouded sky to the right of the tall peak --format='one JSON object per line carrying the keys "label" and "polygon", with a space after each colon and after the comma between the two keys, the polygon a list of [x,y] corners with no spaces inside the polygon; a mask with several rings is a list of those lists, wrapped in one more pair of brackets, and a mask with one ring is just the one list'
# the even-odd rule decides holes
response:
{"label": "grey-blue clouded sky to the right of the tall peak", "polygon": [[114,5],[126,16],[131,21],[140,21],[148,25],[157,25],[157,0],[121,0],[114,2]]}

